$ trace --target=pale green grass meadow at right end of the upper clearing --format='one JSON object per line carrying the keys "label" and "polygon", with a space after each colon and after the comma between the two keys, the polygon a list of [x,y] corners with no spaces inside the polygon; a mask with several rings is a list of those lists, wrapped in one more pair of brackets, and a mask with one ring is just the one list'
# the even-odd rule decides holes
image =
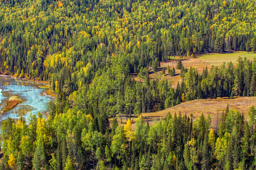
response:
{"label": "pale green grass meadow at right end of the upper clearing", "polygon": [[223,63],[223,61],[225,61],[226,64],[229,61],[232,61],[232,63],[235,65],[236,63],[238,63],[237,59],[239,56],[241,58],[246,57],[247,59],[252,60],[256,57],[256,53],[253,53],[253,52],[247,53],[246,51],[236,51],[234,53],[223,53],[223,54],[215,53],[215,54],[202,55],[198,59],[200,59],[201,61],[207,62],[213,66],[220,66]]}

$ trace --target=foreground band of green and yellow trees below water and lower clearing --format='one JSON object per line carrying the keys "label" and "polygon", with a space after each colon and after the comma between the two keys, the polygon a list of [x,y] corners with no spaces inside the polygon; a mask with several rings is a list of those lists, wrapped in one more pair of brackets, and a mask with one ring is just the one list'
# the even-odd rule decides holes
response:
{"label": "foreground band of green and yellow trees below water and lower clearing", "polygon": [[[17,123],[1,124],[3,170],[254,170],[256,127],[254,106],[244,114],[223,110],[219,127],[211,128],[210,116],[181,113],[145,123],[138,117],[124,127],[114,119],[97,124],[80,110],[49,116],[30,115]],[[99,129],[100,128],[100,129]],[[218,132],[216,134],[216,132]]]}

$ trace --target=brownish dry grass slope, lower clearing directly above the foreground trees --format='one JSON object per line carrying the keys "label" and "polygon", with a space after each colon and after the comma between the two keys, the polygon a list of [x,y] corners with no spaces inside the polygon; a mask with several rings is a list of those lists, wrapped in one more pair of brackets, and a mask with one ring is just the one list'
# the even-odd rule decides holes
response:
{"label": "brownish dry grass slope, lower clearing directly above the foreground trees", "polygon": [[152,113],[143,113],[142,116],[145,120],[153,123],[154,119],[165,118],[165,116],[170,112],[172,115],[175,112],[178,114],[180,111],[182,114],[187,114],[190,116],[193,114],[193,119],[197,119],[201,114],[204,116],[210,115],[212,121],[212,127],[216,127],[217,123],[217,113],[219,112],[219,120],[223,110],[226,109],[229,104],[229,109],[237,109],[240,113],[244,112],[245,119],[248,120],[248,111],[251,106],[256,105],[256,97],[238,97],[235,99],[200,99],[188,102],[183,102],[172,108],[161,110]]}

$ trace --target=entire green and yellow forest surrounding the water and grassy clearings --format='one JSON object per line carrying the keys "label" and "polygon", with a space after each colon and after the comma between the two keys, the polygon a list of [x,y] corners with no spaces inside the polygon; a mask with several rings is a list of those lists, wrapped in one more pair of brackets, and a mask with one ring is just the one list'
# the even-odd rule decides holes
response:
{"label": "entire green and yellow forest surrounding the water and grassy clearings", "polygon": [[[169,114],[153,125],[140,115],[195,99],[256,96],[256,58],[202,73],[182,63],[256,52],[255,14],[255,0],[0,0],[0,73],[49,82],[58,96],[47,119],[1,123],[0,169],[255,169],[254,106],[249,120],[227,106],[217,128],[208,115]],[[176,68],[149,76],[173,56]],[[182,82],[174,89],[166,76],[175,70]]]}

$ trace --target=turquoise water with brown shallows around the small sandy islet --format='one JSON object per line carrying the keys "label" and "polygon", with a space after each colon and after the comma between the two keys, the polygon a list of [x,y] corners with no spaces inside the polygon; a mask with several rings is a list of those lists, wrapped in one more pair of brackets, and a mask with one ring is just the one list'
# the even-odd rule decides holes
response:
{"label": "turquoise water with brown shallows around the small sandy islet", "polygon": [[45,89],[38,88],[39,83],[16,79],[9,76],[0,76],[0,110],[6,106],[11,96],[18,96],[22,99],[14,109],[0,113],[0,122],[8,117],[18,119],[23,116],[29,117],[29,113],[42,113],[47,118],[47,106],[52,100],[44,95]]}

